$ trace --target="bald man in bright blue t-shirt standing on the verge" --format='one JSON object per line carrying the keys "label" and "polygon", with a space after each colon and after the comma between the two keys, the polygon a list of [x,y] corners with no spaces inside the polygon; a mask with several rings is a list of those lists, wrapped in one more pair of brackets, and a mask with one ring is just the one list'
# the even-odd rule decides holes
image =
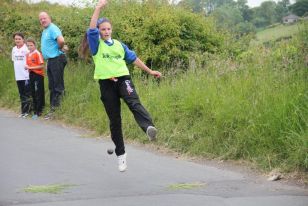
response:
{"label": "bald man in bright blue t-shirt standing on the verge", "polygon": [[48,88],[50,91],[50,111],[45,119],[50,119],[55,108],[60,106],[64,94],[64,67],[67,63],[63,52],[64,38],[62,32],[51,22],[46,12],[39,14],[40,24],[44,27],[41,36],[41,50],[47,60]]}

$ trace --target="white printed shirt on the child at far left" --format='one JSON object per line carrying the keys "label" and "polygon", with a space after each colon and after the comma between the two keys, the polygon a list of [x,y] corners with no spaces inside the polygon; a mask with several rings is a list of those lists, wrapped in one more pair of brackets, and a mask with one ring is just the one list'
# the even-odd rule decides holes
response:
{"label": "white printed shirt on the child at far left", "polygon": [[26,66],[26,54],[29,52],[26,44],[21,48],[14,46],[12,49],[12,61],[14,62],[15,79],[28,80],[29,72],[25,69]]}

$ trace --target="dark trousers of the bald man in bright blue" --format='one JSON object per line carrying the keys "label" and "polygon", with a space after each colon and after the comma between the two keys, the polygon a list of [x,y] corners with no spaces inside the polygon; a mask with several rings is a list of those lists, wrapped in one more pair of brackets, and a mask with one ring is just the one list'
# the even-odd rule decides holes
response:
{"label": "dark trousers of the bald man in bright blue", "polygon": [[47,76],[48,88],[50,91],[50,107],[60,106],[62,95],[64,94],[64,67],[67,64],[64,54],[48,59]]}

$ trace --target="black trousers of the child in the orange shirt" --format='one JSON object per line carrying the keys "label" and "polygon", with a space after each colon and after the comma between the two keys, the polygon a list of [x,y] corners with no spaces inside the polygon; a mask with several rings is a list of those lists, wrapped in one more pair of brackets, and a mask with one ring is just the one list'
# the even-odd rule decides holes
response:
{"label": "black trousers of the child in the orange shirt", "polygon": [[30,72],[30,87],[34,114],[40,116],[45,106],[44,76]]}

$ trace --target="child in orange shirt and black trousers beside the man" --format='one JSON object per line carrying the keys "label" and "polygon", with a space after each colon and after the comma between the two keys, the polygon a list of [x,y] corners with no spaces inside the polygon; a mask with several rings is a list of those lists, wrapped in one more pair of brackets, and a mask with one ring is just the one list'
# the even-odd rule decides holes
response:
{"label": "child in orange shirt and black trousers beside the man", "polygon": [[33,39],[27,40],[27,47],[30,52],[26,56],[25,69],[29,70],[30,88],[33,98],[32,119],[41,116],[45,106],[44,89],[44,60],[42,54],[36,49],[36,43]]}

